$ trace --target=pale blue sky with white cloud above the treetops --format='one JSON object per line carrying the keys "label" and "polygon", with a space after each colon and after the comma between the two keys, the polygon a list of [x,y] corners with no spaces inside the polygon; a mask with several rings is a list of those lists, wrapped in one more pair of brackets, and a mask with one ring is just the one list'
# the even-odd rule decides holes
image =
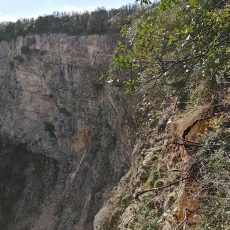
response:
{"label": "pale blue sky with white cloud above the treetops", "polygon": [[52,14],[54,11],[91,11],[97,7],[119,8],[135,0],[0,0],[0,22]]}

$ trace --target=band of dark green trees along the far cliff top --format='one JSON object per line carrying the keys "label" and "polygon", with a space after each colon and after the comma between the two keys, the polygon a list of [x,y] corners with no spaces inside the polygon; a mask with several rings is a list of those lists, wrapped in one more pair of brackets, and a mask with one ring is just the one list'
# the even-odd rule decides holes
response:
{"label": "band of dark green trees along the far cliff top", "polygon": [[55,12],[53,15],[37,19],[19,19],[16,22],[0,24],[0,41],[9,41],[17,36],[37,33],[66,33],[68,35],[88,35],[118,33],[124,24],[131,22],[137,5],[127,5],[120,9],[98,8],[92,12]]}

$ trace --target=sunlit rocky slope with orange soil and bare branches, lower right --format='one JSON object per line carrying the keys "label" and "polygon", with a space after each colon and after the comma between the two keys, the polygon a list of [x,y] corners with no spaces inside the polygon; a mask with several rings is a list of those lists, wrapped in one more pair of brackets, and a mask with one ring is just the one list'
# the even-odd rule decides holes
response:
{"label": "sunlit rocky slope with orange soil and bare branches, lower right", "polygon": [[179,111],[143,98],[132,166],[98,212],[95,230],[229,229],[229,95]]}

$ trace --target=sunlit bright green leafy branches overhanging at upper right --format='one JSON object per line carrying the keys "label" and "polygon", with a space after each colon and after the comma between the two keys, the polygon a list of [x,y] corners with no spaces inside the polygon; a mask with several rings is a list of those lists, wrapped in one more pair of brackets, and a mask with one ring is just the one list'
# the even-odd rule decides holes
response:
{"label": "sunlit bright green leafy branches overhanging at upper right", "polygon": [[134,91],[154,82],[191,93],[207,79],[214,87],[219,76],[229,74],[228,1],[163,0],[140,8],[121,33],[112,77],[123,80],[127,91],[135,88],[131,81]]}

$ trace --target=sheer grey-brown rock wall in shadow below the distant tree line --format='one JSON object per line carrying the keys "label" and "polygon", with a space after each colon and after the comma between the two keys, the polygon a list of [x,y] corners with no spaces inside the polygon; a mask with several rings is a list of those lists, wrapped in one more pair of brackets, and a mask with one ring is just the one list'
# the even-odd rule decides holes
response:
{"label": "sheer grey-brown rock wall in shadow below the distant tree line", "polygon": [[4,229],[92,229],[129,164],[128,103],[98,80],[115,42],[50,34],[0,43]]}

